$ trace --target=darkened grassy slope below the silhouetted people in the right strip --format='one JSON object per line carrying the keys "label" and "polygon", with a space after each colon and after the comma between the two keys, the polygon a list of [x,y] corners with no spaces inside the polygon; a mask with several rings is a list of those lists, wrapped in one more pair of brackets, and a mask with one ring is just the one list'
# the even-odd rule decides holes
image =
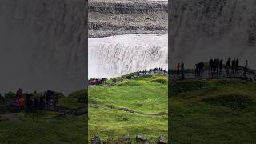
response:
{"label": "darkened grassy slope below the silhouetted people in the right strip", "polygon": [[172,84],[173,143],[256,142],[256,83],[238,79]]}

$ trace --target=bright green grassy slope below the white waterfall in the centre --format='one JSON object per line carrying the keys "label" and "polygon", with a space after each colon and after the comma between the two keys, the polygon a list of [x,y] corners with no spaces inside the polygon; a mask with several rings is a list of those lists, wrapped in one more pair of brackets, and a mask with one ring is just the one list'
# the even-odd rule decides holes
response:
{"label": "bright green grassy slope below the white waterfall in the centre", "polygon": [[161,75],[90,87],[89,138],[98,135],[110,141],[130,134],[134,142],[136,134],[154,140],[161,134],[167,137],[167,89],[167,77]]}

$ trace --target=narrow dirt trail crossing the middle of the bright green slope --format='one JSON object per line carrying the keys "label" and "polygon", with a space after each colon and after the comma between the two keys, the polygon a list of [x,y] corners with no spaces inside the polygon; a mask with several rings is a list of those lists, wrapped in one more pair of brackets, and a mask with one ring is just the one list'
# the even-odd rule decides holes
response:
{"label": "narrow dirt trail crossing the middle of the bright green slope", "polygon": [[122,111],[125,111],[126,113],[131,113],[131,114],[142,114],[142,115],[150,115],[150,116],[165,116],[165,115],[167,116],[168,115],[168,113],[166,113],[166,112],[143,113],[143,112],[140,112],[140,111],[130,110],[126,107],[118,107],[118,106],[99,105],[99,104],[92,104],[92,103],[90,103],[90,106],[95,107],[95,108],[98,108],[99,106],[102,106],[102,107],[106,107],[106,108],[109,108],[109,109],[122,110]]}

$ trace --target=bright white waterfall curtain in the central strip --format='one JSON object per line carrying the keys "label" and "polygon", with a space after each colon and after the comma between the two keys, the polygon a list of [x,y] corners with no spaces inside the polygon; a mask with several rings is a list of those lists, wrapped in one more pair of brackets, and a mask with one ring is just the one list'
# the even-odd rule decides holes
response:
{"label": "bright white waterfall curtain in the central strip", "polygon": [[125,34],[89,38],[89,78],[112,78],[168,66],[168,34]]}

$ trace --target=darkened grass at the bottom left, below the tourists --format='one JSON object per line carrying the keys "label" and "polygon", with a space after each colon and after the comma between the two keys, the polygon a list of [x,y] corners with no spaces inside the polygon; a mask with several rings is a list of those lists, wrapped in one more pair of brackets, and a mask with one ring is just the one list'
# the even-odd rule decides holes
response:
{"label": "darkened grass at the bottom left, below the tourists", "polygon": [[21,121],[0,122],[0,143],[85,143],[85,117],[46,119],[53,114],[26,114]]}

